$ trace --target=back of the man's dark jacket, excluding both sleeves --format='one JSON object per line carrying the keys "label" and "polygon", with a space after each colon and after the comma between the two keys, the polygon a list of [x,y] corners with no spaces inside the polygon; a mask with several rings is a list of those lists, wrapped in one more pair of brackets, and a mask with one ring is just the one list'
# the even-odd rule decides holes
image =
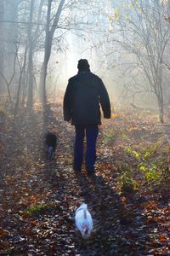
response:
{"label": "back of the man's dark jacket, excluding both sleeves", "polygon": [[90,72],[78,73],[71,87],[72,123],[99,124],[99,78]]}

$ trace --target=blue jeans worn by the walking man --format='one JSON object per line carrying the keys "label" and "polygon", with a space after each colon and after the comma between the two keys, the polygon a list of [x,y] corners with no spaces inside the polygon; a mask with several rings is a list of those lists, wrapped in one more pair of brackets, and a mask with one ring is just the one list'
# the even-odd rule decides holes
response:
{"label": "blue jeans worn by the walking man", "polygon": [[88,172],[94,172],[96,160],[96,140],[98,137],[98,125],[75,125],[76,138],[74,146],[74,168],[81,170],[83,161],[83,141],[86,134],[86,168]]}

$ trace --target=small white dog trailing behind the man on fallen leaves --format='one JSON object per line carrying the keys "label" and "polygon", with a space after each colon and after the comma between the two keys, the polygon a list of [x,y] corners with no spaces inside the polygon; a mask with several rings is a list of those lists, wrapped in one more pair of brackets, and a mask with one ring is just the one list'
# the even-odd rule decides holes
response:
{"label": "small white dog trailing behind the man on fallen leaves", "polygon": [[89,238],[93,230],[93,219],[90,212],[88,212],[87,204],[82,203],[82,205],[77,208],[75,221],[77,230],[81,232],[82,238]]}

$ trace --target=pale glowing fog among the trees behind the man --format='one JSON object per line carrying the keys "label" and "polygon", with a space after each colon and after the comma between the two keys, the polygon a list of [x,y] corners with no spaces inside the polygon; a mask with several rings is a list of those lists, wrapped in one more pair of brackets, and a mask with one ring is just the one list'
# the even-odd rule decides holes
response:
{"label": "pale glowing fog among the trees behind the man", "polygon": [[88,59],[114,108],[170,104],[170,1],[1,0],[0,94],[19,108],[59,101]]}

